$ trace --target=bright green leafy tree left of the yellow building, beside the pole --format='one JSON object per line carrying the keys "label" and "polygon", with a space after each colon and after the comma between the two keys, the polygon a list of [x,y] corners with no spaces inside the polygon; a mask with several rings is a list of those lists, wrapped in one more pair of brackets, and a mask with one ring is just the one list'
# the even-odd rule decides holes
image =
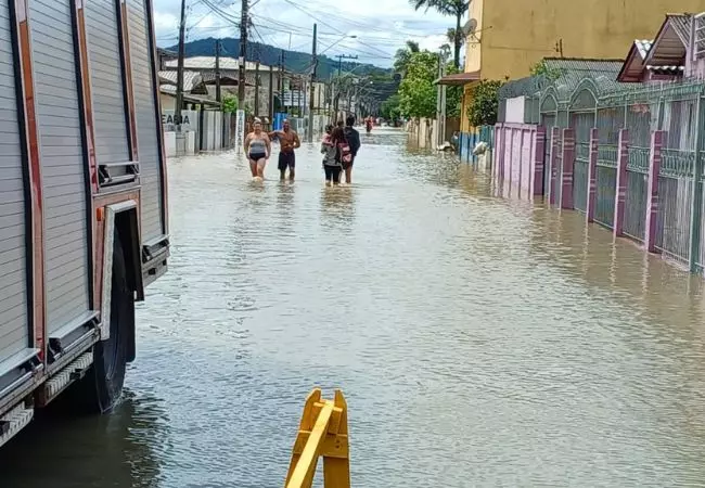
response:
{"label": "bright green leafy tree left of the yellow building, beside the pole", "polygon": [[411,53],[407,73],[399,85],[399,108],[407,117],[433,117],[436,114],[438,56],[430,51]]}

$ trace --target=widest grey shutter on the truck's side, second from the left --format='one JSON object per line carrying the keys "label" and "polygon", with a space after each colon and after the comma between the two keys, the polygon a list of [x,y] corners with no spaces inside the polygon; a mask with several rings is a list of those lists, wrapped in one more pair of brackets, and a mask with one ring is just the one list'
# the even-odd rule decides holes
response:
{"label": "widest grey shutter on the truck's side, second from the left", "polygon": [[29,27],[43,189],[47,334],[89,320],[90,185],[72,2],[31,0]]}

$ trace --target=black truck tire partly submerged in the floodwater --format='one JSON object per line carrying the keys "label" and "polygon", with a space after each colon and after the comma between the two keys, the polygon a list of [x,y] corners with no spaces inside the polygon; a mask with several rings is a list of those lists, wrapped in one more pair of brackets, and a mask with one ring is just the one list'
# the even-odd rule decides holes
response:
{"label": "black truck tire partly submerged in the floodwater", "polygon": [[123,393],[127,365],[129,328],[134,326],[134,293],[127,280],[123,245],[117,232],[113,240],[113,279],[111,285],[111,336],[93,346],[93,365],[75,385],[70,400],[74,411],[104,413]]}

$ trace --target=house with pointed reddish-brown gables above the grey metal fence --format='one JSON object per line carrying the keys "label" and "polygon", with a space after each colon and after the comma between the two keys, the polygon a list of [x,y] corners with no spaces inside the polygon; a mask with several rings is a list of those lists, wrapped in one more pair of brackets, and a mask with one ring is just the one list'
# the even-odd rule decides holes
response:
{"label": "house with pointed reddish-brown gables above the grey metal fence", "polygon": [[636,40],[617,79],[621,82],[702,78],[705,14],[668,14],[653,40]]}

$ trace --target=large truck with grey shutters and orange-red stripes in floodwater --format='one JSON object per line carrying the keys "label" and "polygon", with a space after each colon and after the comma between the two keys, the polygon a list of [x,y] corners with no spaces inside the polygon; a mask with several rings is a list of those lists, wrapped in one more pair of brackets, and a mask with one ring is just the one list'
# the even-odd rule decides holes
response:
{"label": "large truck with grey shutters and orange-red stripes in floodwater", "polygon": [[0,0],[0,48],[2,446],[113,407],[169,237],[152,0]]}

